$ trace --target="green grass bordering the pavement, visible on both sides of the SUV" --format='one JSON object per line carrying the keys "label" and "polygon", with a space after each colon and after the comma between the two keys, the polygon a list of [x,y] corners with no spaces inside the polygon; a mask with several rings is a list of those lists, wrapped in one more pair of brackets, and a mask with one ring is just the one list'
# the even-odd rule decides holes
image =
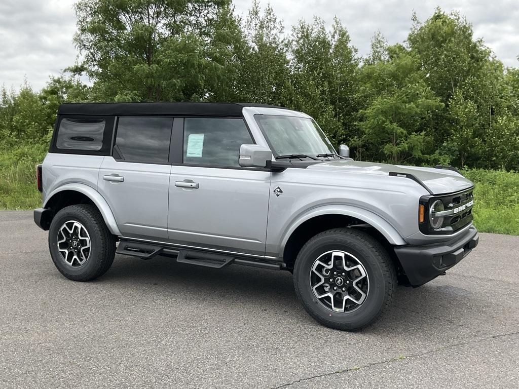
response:
{"label": "green grass bordering the pavement, visible on both sides of the SUV", "polygon": [[[31,210],[42,206],[36,188],[35,165],[41,151],[32,158],[14,162],[0,158],[0,210]],[[474,225],[481,232],[519,235],[519,173],[493,170],[465,170],[476,185]]]}

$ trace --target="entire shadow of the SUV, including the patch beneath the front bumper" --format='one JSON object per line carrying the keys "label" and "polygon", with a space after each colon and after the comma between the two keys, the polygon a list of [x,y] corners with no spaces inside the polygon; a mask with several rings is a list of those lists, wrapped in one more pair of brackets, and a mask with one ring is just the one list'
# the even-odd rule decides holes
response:
{"label": "entire shadow of the SUV, including the patch beneath the front bumper", "polygon": [[[177,263],[167,257],[144,261],[116,256],[112,269],[95,281],[127,287],[146,286],[148,297],[186,301],[203,301],[214,309],[235,309],[246,304],[262,311],[280,311],[320,326],[306,314],[299,303],[292,275],[287,271],[272,271],[231,265],[223,269]],[[469,305],[471,308],[469,309]],[[398,286],[390,309],[384,319],[364,331],[393,334],[431,334],[466,326],[474,312],[474,299],[468,290],[439,285],[435,281],[419,288]],[[484,310],[484,307],[478,308]],[[481,314],[481,312],[479,313]]]}

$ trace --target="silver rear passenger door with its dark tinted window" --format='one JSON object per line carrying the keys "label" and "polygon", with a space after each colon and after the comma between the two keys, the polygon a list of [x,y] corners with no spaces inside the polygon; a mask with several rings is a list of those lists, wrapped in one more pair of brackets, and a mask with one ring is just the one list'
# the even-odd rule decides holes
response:
{"label": "silver rear passenger door with its dark tinted window", "polygon": [[98,190],[125,237],[168,240],[172,126],[171,117],[118,119],[113,156],[104,157]]}

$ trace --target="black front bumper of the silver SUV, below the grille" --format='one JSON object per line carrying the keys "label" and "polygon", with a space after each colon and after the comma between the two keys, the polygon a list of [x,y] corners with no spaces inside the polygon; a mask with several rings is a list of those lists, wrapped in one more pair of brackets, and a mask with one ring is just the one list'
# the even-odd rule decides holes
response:
{"label": "black front bumper of the silver SUV, below the grille", "polygon": [[479,235],[471,226],[466,234],[444,243],[395,247],[394,252],[409,283],[420,286],[435,279],[465,258],[477,246]]}

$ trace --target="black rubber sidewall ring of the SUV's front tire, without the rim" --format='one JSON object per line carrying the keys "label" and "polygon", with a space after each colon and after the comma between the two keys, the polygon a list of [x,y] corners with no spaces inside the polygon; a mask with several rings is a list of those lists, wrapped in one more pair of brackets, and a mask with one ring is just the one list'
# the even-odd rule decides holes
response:
{"label": "black rubber sidewall ring of the SUV's front tire, without the rim", "polygon": [[[321,234],[320,234],[321,235]],[[294,268],[294,284],[305,309],[322,324],[338,329],[359,329],[369,325],[379,316],[387,298],[384,262],[380,256],[384,251],[374,250],[360,239],[359,233],[330,233],[316,235],[299,253]],[[371,242],[376,243],[376,242]],[[379,247],[381,248],[381,247]],[[313,263],[322,254],[343,251],[356,257],[366,270],[369,289],[366,300],[351,312],[334,312],[317,299],[310,285]]]}

